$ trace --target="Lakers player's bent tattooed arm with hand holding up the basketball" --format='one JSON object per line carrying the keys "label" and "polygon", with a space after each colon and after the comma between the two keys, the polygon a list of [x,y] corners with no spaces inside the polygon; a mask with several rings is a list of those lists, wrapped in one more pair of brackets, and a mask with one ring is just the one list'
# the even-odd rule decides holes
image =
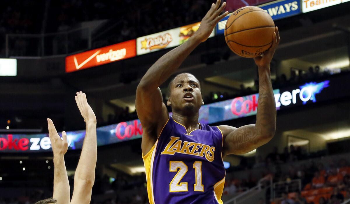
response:
{"label": "Lakers player's bent tattooed arm with hand holding up the basketball", "polygon": [[270,63],[280,42],[278,28],[273,34],[273,44],[264,54],[254,58],[259,69],[259,99],[255,125],[239,128],[220,126],[224,136],[223,155],[245,154],[270,141],[276,129],[276,103],[270,74]]}

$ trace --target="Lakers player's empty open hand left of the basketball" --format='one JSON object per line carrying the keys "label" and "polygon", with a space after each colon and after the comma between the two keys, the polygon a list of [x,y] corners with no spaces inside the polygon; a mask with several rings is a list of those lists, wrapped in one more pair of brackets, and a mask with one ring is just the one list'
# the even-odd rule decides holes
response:
{"label": "Lakers player's empty open hand left of the basketball", "polygon": [[204,16],[202,19],[201,25],[198,28],[197,32],[194,34],[194,36],[198,37],[201,42],[204,42],[208,39],[210,34],[212,33],[214,27],[216,24],[223,19],[227,14],[229,14],[228,11],[225,13],[219,15],[225,8],[226,2],[224,2],[220,6],[221,0],[217,0],[216,3],[212,4],[208,13]]}

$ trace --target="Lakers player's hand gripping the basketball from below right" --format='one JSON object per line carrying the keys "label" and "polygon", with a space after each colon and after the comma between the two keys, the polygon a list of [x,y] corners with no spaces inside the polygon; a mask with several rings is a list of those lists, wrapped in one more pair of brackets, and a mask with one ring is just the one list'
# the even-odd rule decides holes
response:
{"label": "Lakers player's hand gripping the basketball from below right", "polygon": [[276,48],[280,43],[281,38],[278,32],[278,27],[275,27],[275,33],[273,33],[273,43],[271,47],[265,52],[264,55],[255,57],[255,64],[258,65],[259,68],[266,68],[270,66],[273,55],[275,54]]}

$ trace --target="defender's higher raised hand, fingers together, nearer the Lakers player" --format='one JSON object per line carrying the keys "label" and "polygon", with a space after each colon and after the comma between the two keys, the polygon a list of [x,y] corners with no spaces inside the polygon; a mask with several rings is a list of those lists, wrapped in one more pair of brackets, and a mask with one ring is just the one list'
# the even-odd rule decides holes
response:
{"label": "defender's higher raised hand, fingers together, nearer the Lakers player", "polygon": [[96,122],[96,115],[93,112],[90,105],[87,103],[86,94],[83,92],[77,92],[77,96],[75,97],[75,102],[79,108],[80,114],[82,114],[84,121],[88,122]]}

